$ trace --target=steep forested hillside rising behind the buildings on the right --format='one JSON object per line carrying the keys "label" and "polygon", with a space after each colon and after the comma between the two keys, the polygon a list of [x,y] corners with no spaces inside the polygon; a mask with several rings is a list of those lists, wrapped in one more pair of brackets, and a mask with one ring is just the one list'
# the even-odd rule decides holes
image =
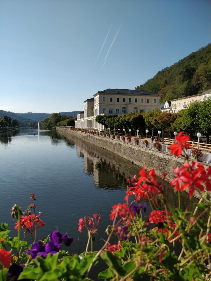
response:
{"label": "steep forested hillside rising behind the buildings on the right", "polygon": [[137,90],[161,95],[161,101],[191,96],[211,88],[211,44],[166,67]]}

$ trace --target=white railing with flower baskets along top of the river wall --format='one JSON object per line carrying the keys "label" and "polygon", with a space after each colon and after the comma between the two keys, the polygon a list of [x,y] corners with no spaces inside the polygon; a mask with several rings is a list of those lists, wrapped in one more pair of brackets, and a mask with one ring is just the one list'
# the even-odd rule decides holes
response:
{"label": "white railing with flower baskets along top of the river wall", "polygon": [[[65,128],[65,127],[64,127],[64,128]],[[73,129],[74,127],[66,127],[66,128],[68,128],[68,129]],[[82,133],[83,133],[83,132],[82,132]],[[88,134],[88,133],[86,133],[86,134]],[[96,136],[98,136],[98,135],[96,135]],[[103,137],[103,138],[104,138],[104,136],[101,136],[101,135],[99,135],[99,137]],[[108,136],[106,136],[106,138],[108,138]],[[112,136],[110,137],[110,139],[113,139]],[[120,136],[120,139],[119,139],[119,140],[116,138],[116,136],[115,136],[115,139],[113,139],[113,140],[115,140],[115,141],[122,141],[122,142],[123,142],[123,140],[121,139],[121,136]],[[153,147],[153,142],[151,142],[150,139],[148,140],[147,146],[146,146],[145,144],[143,144],[142,141],[143,141],[143,140],[139,140],[138,145],[144,146],[144,147],[147,147],[147,148],[150,148],[150,149],[153,149],[153,150],[157,150],[156,148]],[[127,141],[127,138],[126,138],[126,137],[125,137],[125,142],[129,143],[129,142]],[[133,138],[131,138],[130,144],[136,145],[136,144],[134,143],[134,141],[133,141]],[[169,145],[164,145],[164,144],[162,144],[162,145],[161,145],[161,150],[160,150],[160,151],[167,152],[167,153],[171,154],[171,150],[168,149],[168,146],[169,146]],[[188,157],[189,157],[190,159],[193,159],[193,156],[192,156],[192,153],[191,153],[191,149],[186,149],[186,150],[185,150],[185,153],[188,155]],[[185,156],[185,153],[182,151],[182,155],[183,155],[183,156]],[[206,162],[206,163],[210,163],[210,164],[211,164],[211,153],[202,152],[202,156],[199,158],[199,161],[202,161],[202,162]]]}

